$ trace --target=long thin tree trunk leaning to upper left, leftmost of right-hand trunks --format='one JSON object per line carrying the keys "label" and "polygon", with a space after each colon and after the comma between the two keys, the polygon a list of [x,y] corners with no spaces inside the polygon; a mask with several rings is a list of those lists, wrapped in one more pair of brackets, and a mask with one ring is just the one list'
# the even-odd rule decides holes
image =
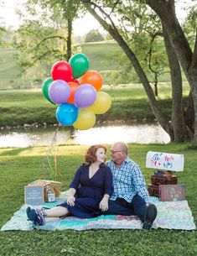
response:
{"label": "long thin tree trunk leaning to upper left, leftmost of right-hand trunks", "polygon": [[168,118],[164,117],[162,112],[160,111],[158,107],[158,102],[154,96],[153,89],[149,84],[148,78],[144,73],[142,66],[139,64],[136,55],[134,55],[132,50],[129,48],[128,44],[122,38],[121,34],[118,33],[117,28],[114,24],[111,25],[106,23],[106,20],[101,18],[101,16],[99,16],[99,14],[96,13],[96,10],[94,9],[94,7],[92,7],[90,1],[84,0],[82,1],[82,3],[84,3],[84,6],[88,10],[88,12],[91,13],[94,18],[96,18],[96,20],[101,24],[101,26],[104,29],[106,29],[106,31],[109,34],[111,34],[111,37],[117,41],[117,44],[120,45],[124,53],[127,55],[127,58],[131,61],[135,71],[137,72],[138,77],[140,78],[140,81],[143,84],[143,88],[148,95],[149,104],[153,110],[155,117],[158,119],[158,123],[160,123],[162,128],[169,134],[170,138],[173,140],[174,132],[171,127],[171,124],[168,122]]}

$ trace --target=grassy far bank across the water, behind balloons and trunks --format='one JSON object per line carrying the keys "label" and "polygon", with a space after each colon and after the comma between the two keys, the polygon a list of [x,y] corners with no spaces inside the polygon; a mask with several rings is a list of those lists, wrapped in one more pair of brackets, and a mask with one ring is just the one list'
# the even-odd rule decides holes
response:
{"label": "grassy far bank across the water, behind balloons and trunks", "polygon": [[[111,96],[112,104],[108,112],[96,115],[96,124],[153,122],[155,117],[148,98],[141,85],[114,86],[103,88]],[[184,85],[184,95],[189,86]],[[57,124],[56,108],[49,103],[40,90],[0,91],[0,128],[39,127]],[[186,106],[186,99],[184,99]],[[171,85],[158,85],[158,105],[169,118],[171,116]]]}

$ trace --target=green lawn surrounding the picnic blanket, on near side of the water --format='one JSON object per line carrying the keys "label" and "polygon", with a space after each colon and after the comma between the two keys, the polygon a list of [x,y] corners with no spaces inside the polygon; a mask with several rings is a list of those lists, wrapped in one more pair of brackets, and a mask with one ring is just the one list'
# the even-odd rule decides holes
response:
{"label": "green lawn surrounding the picnic blanket, on near side of the water", "polygon": [[[42,178],[42,161],[47,147],[0,149],[0,226],[23,204],[23,187]],[[87,147],[61,145],[58,148],[58,170],[63,190],[68,188]],[[186,185],[186,198],[197,221],[196,149],[188,144],[129,144],[129,155],[143,170],[147,183],[153,170],[145,168],[148,150],[184,154],[184,172],[177,173],[179,183]],[[109,158],[109,156],[108,156]],[[57,180],[60,180],[58,177]],[[0,255],[197,255],[197,232],[174,230],[71,230],[44,232],[0,232]],[[62,250],[66,249],[64,253]]]}

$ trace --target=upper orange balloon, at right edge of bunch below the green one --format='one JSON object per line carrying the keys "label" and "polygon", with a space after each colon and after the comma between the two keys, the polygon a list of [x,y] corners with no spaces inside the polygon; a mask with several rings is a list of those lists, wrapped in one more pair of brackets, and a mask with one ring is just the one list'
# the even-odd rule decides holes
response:
{"label": "upper orange balloon, at right edge of bunch below the green one", "polygon": [[96,91],[99,91],[102,86],[102,76],[97,71],[86,71],[86,74],[81,77],[80,84],[91,84]]}

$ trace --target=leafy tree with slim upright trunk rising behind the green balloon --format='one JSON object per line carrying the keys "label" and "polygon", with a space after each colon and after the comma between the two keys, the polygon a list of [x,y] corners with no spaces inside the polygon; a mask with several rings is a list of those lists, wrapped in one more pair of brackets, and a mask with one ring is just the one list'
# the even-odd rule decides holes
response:
{"label": "leafy tree with slim upright trunk rising behind the green balloon", "polygon": [[[40,8],[41,17],[38,16]],[[72,21],[77,17],[77,8],[72,0],[64,1],[64,5],[55,0],[28,0],[26,11],[31,17],[27,19],[27,13],[18,11],[23,25],[15,34],[14,44],[18,49],[18,64],[30,77],[44,71],[44,67],[49,70],[56,60],[70,59]]]}

